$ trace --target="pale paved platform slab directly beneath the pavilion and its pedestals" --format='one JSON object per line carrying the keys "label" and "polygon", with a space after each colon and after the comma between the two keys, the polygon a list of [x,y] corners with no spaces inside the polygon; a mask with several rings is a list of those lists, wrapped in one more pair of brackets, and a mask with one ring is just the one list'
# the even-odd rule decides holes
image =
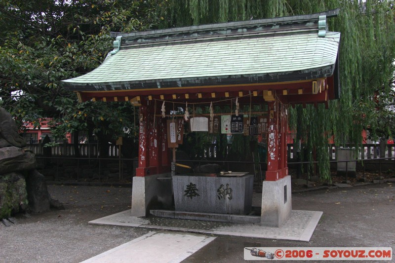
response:
{"label": "pale paved platform slab directly beneath the pavilion and its pedestals", "polygon": [[229,235],[240,237],[270,238],[285,240],[310,241],[322,212],[292,210],[290,218],[280,227],[268,227],[259,224],[236,224],[199,220],[182,220],[171,218],[132,217],[126,210],[114,215],[90,221],[92,225],[123,225],[166,229],[184,232]]}

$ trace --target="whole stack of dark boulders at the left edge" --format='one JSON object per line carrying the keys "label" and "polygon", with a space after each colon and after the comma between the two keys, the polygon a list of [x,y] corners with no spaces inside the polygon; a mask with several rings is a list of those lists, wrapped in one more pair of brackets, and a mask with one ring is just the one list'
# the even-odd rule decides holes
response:
{"label": "whole stack of dark boulders at the left edge", "polygon": [[44,176],[36,170],[35,155],[25,146],[11,114],[0,108],[0,220],[6,226],[12,223],[7,218],[18,212],[63,208],[49,195]]}

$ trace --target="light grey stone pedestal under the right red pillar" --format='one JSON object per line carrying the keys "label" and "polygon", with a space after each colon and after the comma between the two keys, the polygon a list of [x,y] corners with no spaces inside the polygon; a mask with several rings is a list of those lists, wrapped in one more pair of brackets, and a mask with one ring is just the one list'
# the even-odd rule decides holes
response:
{"label": "light grey stone pedestal under the right red pillar", "polygon": [[291,215],[291,176],[262,184],[261,225],[281,226]]}

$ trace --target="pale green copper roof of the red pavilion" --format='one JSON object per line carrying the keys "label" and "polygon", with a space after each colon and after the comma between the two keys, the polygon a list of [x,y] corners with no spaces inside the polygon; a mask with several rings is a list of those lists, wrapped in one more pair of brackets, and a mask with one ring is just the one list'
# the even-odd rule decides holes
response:
{"label": "pale green copper roof of the red pavilion", "polygon": [[[319,19],[322,21],[322,15]],[[124,34],[122,38],[119,34],[114,41],[118,52],[109,53],[92,72],[64,80],[64,84],[72,90],[109,90],[333,75],[340,33],[322,35],[320,22],[319,36],[318,16],[314,26],[309,21],[297,26],[291,22],[258,24],[247,28],[240,25],[240,30],[232,32],[212,27],[205,34],[192,30],[188,37],[177,30],[170,37],[165,31],[153,31],[152,39],[150,32],[132,37]]]}

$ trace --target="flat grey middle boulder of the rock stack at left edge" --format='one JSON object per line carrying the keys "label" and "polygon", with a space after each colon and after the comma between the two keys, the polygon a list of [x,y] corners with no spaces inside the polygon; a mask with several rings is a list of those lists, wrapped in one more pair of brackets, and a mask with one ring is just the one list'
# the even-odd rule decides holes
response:
{"label": "flat grey middle boulder of the rock stack at left edge", "polygon": [[32,151],[14,146],[0,149],[0,175],[32,169],[36,169]]}

